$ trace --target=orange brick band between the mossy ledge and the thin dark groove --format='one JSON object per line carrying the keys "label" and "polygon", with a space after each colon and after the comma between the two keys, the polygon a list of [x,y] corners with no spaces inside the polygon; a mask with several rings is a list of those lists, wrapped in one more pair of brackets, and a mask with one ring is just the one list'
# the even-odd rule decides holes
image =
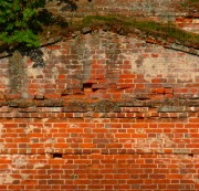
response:
{"label": "orange brick band between the mossy ledge and the thin dark groove", "polygon": [[199,153],[195,119],[0,119],[0,153]]}

